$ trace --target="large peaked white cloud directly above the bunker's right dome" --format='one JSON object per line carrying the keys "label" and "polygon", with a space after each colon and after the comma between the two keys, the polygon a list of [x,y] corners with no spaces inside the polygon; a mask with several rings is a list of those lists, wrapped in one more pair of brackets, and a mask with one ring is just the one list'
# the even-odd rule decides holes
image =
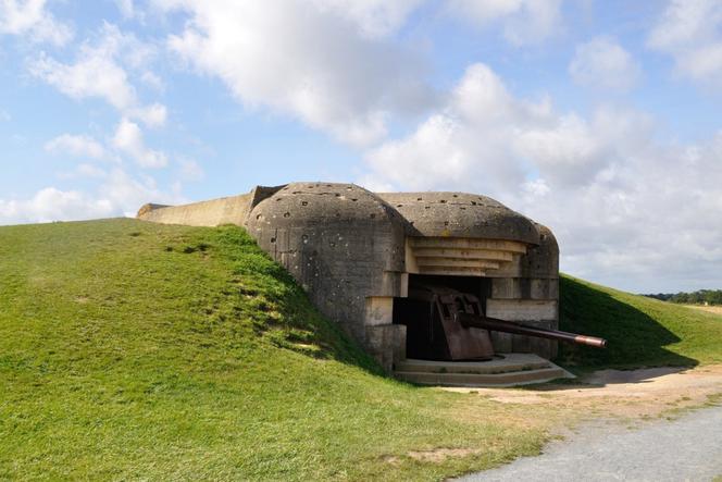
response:
{"label": "large peaked white cloud directly above the bunker's right dome", "polygon": [[601,116],[596,124],[553,113],[547,99],[518,100],[489,67],[474,64],[441,113],[366,156],[374,174],[364,181],[379,176],[403,188],[431,182],[505,193],[525,181],[533,158],[548,182],[576,182],[601,169],[603,149],[593,135]]}

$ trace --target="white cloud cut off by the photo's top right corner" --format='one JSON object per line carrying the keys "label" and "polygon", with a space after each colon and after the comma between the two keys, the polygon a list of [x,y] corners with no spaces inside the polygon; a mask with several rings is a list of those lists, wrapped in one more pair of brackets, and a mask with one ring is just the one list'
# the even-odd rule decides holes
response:
{"label": "white cloud cut off by the photo's top right corner", "polygon": [[672,55],[682,75],[722,82],[722,3],[671,0],[651,29],[648,45]]}

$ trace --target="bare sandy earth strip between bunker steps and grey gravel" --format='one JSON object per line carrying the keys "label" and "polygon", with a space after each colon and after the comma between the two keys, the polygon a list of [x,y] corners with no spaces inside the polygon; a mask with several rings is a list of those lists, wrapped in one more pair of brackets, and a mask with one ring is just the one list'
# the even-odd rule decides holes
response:
{"label": "bare sandy earth strip between bunker steps and grey gravel", "polygon": [[[671,409],[704,405],[722,394],[722,364],[694,369],[601,370],[576,384],[537,388],[447,388],[476,392],[502,404],[538,405],[574,419],[655,417]],[[543,411],[548,412],[547,409]]]}

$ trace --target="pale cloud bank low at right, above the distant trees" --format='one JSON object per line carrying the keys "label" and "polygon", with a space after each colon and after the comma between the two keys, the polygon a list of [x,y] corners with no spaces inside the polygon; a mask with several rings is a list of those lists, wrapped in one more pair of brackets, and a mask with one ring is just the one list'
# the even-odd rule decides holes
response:
{"label": "pale cloud bank low at right, above the distant trees", "polygon": [[577,275],[628,289],[719,286],[720,139],[649,143],[609,160],[594,183],[552,188],[521,208],[556,228],[563,268]]}

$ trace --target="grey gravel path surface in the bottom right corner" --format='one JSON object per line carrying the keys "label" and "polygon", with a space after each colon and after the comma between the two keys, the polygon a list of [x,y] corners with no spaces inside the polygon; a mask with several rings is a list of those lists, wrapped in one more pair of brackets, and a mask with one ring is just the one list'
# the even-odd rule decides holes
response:
{"label": "grey gravel path surface in the bottom right corner", "polygon": [[459,481],[711,481],[722,475],[722,407],[693,411],[639,430],[618,422],[584,425],[578,434],[526,457]]}

